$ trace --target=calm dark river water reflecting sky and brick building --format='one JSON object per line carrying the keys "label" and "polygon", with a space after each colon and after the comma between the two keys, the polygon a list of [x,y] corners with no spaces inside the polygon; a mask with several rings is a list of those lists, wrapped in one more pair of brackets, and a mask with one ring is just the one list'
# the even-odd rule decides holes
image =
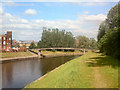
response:
{"label": "calm dark river water reflecting sky and brick building", "polygon": [[29,59],[2,64],[2,88],[23,88],[54,68],[78,56]]}

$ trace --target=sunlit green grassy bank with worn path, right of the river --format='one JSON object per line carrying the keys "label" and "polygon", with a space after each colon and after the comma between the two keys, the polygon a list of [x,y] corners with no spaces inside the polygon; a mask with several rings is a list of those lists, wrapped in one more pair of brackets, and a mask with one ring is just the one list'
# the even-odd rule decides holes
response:
{"label": "sunlit green grassy bank with worn path, right of the river", "polygon": [[25,88],[118,88],[118,61],[88,52]]}

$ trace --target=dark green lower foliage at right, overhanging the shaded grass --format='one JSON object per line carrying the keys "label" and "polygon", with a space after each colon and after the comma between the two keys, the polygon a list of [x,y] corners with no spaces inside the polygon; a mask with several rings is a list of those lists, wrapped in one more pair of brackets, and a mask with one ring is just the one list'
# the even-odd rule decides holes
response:
{"label": "dark green lower foliage at right, overhanging the shaded grass", "polygon": [[101,52],[104,52],[107,55],[111,55],[114,57],[120,57],[120,49],[118,46],[118,28],[111,29],[106,32],[106,34],[101,38],[98,42],[98,47]]}

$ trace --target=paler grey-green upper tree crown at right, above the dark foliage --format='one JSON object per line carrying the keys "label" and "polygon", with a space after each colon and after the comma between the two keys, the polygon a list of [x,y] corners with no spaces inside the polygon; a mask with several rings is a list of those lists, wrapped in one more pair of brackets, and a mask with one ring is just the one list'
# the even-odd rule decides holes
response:
{"label": "paler grey-green upper tree crown at right, above the dark foliage", "polygon": [[118,3],[110,9],[107,19],[104,20],[99,26],[98,41],[105,35],[105,33],[112,29],[119,27],[120,24],[120,4]]}

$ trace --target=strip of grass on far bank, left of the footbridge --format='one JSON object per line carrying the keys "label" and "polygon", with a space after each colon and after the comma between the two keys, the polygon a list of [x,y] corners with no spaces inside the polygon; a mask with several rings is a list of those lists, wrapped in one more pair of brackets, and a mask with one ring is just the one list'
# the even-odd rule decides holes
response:
{"label": "strip of grass on far bank, left of the footbridge", "polygon": [[3,52],[0,53],[2,58],[13,58],[13,57],[25,57],[25,56],[32,56],[30,52]]}

